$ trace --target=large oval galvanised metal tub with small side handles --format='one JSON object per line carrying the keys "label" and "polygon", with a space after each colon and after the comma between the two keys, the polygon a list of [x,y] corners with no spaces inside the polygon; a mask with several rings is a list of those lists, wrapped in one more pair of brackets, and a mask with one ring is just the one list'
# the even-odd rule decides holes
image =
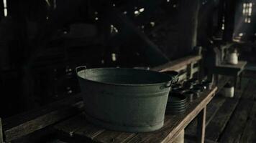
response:
{"label": "large oval galvanised metal tub with small side handles", "polygon": [[77,68],[86,119],[106,129],[151,132],[163,127],[170,75],[125,68]]}

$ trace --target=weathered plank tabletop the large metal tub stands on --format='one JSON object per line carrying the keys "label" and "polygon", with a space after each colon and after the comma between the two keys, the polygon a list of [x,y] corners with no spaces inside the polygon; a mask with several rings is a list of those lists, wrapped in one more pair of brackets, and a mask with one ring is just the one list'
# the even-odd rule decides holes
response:
{"label": "weathered plank tabletop the large metal tub stands on", "polygon": [[[79,114],[72,119],[56,124],[55,129],[57,129],[58,132],[61,132],[62,134],[64,133],[70,137],[74,137],[74,139],[78,137],[79,139],[91,139],[92,141],[101,143],[173,142],[175,137],[178,137],[178,134],[211,101],[215,95],[216,90],[217,87],[202,93],[201,97],[191,102],[188,109],[183,114],[166,114],[163,128],[155,132],[127,133],[102,129],[86,122],[86,118],[83,116],[83,114]],[[81,124],[81,122],[83,124]]]}

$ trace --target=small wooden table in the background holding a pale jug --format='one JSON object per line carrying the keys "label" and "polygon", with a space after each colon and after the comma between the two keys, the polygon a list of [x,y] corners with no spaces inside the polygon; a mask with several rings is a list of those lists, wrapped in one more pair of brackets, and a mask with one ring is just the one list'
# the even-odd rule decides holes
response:
{"label": "small wooden table in the background holding a pale jug", "polygon": [[214,67],[213,74],[216,74],[217,82],[219,79],[218,75],[234,77],[234,93],[236,93],[237,78],[239,77],[239,87],[241,87],[242,73],[246,64],[247,61],[239,61],[238,64],[220,64]]}

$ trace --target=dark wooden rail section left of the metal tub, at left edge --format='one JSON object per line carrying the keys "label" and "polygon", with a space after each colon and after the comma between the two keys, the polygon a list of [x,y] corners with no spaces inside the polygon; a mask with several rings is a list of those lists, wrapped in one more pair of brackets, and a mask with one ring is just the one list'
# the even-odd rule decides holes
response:
{"label": "dark wooden rail section left of the metal tub, at left edge", "polygon": [[65,99],[55,104],[50,104],[41,109],[17,114],[4,120],[3,129],[5,141],[9,142],[24,135],[47,127],[81,112],[83,102],[78,94],[71,99]]}

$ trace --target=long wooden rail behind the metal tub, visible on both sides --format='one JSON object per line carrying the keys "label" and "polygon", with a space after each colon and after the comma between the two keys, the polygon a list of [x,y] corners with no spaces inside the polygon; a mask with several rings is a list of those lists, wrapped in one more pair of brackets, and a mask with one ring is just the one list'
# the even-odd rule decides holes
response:
{"label": "long wooden rail behind the metal tub, visible on both sides", "polygon": [[[152,68],[152,70],[180,71],[180,69],[185,68],[193,69],[193,71],[190,70],[191,72],[189,72],[189,74],[193,74],[196,71],[198,72],[198,68],[189,65],[198,63],[201,58],[202,56],[200,55],[186,56]],[[188,79],[190,75],[184,75],[183,77],[184,79]],[[81,112],[83,112],[83,101],[81,94],[76,94],[58,102],[47,104],[44,107],[2,119],[2,124],[0,122],[0,143],[2,140],[4,140],[4,142],[13,142],[17,139],[21,139],[33,132],[45,129],[45,127],[51,127],[52,124],[63,121],[63,119],[76,116]]]}

